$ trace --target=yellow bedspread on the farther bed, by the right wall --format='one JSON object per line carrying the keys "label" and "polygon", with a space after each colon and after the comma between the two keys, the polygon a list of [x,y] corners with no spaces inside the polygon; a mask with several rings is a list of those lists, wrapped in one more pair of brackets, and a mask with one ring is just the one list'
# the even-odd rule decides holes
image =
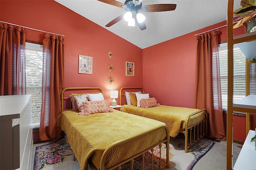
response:
{"label": "yellow bedspread on the farther bed, by the right wall", "polygon": [[[194,108],[183,108],[160,105],[152,108],[140,108],[132,105],[124,105],[124,112],[136,114],[166,123],[171,137],[178,135],[180,129],[185,129],[185,121],[189,114],[200,111]],[[190,117],[188,127],[204,119],[204,112]]]}

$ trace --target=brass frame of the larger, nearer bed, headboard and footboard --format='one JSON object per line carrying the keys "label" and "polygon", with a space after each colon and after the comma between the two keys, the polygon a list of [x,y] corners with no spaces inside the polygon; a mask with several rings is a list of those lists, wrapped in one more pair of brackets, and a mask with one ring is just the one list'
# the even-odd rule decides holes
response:
{"label": "brass frame of the larger, nearer bed, headboard and footboard", "polygon": [[[69,97],[64,97],[64,92],[66,91],[77,91],[77,90],[98,90],[100,92],[102,92],[103,94],[103,90],[99,87],[81,87],[81,88],[65,88],[62,93],[61,93],[61,108],[62,108],[62,111],[64,111],[64,101],[65,100],[68,100]],[[71,105],[71,102],[70,102],[70,105]],[[71,107],[70,107],[71,108]],[[160,152],[160,159],[159,159],[159,168],[158,170],[161,170],[163,168],[169,168],[170,166],[170,162],[169,162],[169,139],[170,139],[170,136],[168,135],[169,134],[169,130],[167,128],[167,126],[163,125],[162,127],[156,127],[156,128],[152,128],[151,130],[147,130],[145,132],[142,132],[140,134],[137,134],[135,136],[132,136],[130,138],[126,138],[124,140],[120,140],[118,142],[114,142],[113,144],[111,144],[110,146],[108,146],[108,148],[106,148],[106,150],[104,151],[104,153],[102,154],[101,156],[101,159],[100,159],[100,170],[105,170],[106,167],[104,166],[105,165],[105,161],[106,161],[106,156],[110,153],[110,152],[113,152],[114,149],[116,149],[118,146],[126,143],[126,142],[129,142],[131,140],[134,140],[136,138],[140,138],[142,136],[146,136],[147,134],[150,134],[152,132],[155,132],[157,130],[159,130],[160,128],[164,128],[166,130],[166,137],[164,138],[163,141],[160,141],[159,143],[157,144],[154,144],[154,146],[152,147],[149,147],[148,149],[146,150],[143,150],[142,152],[134,155],[134,156],[131,156],[130,158],[124,160],[123,162],[120,162],[119,164],[116,164],[115,166],[111,167],[111,168],[108,168],[108,170],[113,170],[115,168],[117,168],[118,170],[121,169],[121,165],[122,164],[125,164],[126,162],[131,162],[131,168],[133,169],[133,162],[134,162],[134,158],[138,157],[138,156],[142,156],[142,170],[144,170],[144,156],[145,156],[145,153],[148,152],[149,150],[152,151],[151,153],[151,157],[152,157],[152,162],[153,162],[153,151],[154,151],[154,147],[156,146],[159,146],[161,148],[162,144],[166,144],[166,162],[164,162],[164,164],[161,163],[161,152]],[[67,134],[67,137],[68,137],[68,134]],[[72,146],[71,146],[72,148]],[[160,149],[161,150],[161,149]],[[74,154],[74,151],[73,151],[73,160],[75,160],[75,154]],[[90,167],[93,169],[93,170],[98,170],[96,168],[96,166],[94,166],[94,164],[92,164],[92,162],[88,161],[88,164],[90,165]],[[153,170],[153,163],[152,163],[152,167],[151,169]]]}

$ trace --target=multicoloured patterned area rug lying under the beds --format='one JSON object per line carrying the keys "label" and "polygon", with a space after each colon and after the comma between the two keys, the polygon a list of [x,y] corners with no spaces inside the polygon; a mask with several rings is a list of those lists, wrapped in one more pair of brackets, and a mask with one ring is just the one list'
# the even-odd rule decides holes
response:
{"label": "multicoloured patterned area rug lying under the beds", "polygon": [[[199,140],[189,149],[188,153],[184,152],[184,135],[179,134],[176,138],[170,139],[170,168],[169,170],[191,170],[194,164],[201,156],[206,154],[212,148],[214,141],[208,139]],[[154,148],[153,167],[156,169],[159,165],[160,148]],[[161,153],[166,153],[166,146],[162,144]],[[151,151],[146,152],[144,157],[144,169],[151,170]],[[162,156],[161,161],[164,162],[166,157]],[[130,170],[131,163],[127,162],[122,166],[122,170]],[[65,140],[53,142],[36,147],[34,158],[34,170],[78,170],[79,163],[72,160],[72,150]],[[88,168],[91,170],[91,168]],[[139,156],[134,160],[134,170],[142,169],[142,157]],[[167,169],[165,169],[167,170]]]}

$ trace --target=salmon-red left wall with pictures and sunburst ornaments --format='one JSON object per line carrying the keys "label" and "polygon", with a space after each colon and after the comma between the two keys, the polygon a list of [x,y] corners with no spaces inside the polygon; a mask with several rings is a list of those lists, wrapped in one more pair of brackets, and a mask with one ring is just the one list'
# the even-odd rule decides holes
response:
{"label": "salmon-red left wall with pictures and sunburst ornaments", "polygon": [[[65,35],[65,88],[98,86],[110,102],[109,90],[143,86],[141,48],[53,0],[1,0],[0,20]],[[27,40],[42,42],[42,32],[25,31]],[[113,52],[113,58],[108,58],[108,51]],[[78,55],[93,57],[93,74],[78,74]],[[135,76],[125,75],[126,61],[134,62]],[[113,72],[108,64],[113,64]],[[107,82],[110,75],[114,77],[112,85]]]}

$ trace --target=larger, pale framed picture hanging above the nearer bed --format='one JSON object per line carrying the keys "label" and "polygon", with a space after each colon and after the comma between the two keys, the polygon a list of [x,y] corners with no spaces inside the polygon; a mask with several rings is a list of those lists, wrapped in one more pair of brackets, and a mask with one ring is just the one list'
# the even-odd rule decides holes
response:
{"label": "larger, pale framed picture hanging above the nearer bed", "polygon": [[92,57],[79,55],[78,73],[92,74]]}

